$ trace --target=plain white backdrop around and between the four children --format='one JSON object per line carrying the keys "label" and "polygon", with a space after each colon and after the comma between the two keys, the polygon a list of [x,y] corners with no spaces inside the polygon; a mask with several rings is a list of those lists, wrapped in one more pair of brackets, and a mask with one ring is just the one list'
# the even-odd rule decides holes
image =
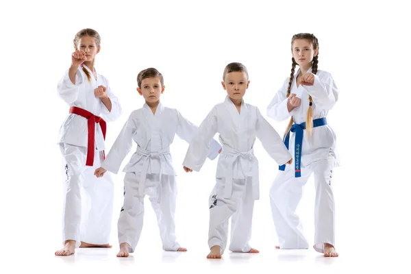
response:
{"label": "plain white backdrop around and between the four children", "polygon": [[[166,85],[162,103],[199,125],[212,106],[225,98],[221,87],[225,65],[242,62],[251,81],[245,101],[257,105],[266,117],[266,106],[290,74],[292,35],[314,34],[319,39],[319,69],[332,73],[340,92],[327,117],[343,164],[332,179],[336,247],[341,254],[337,260],[368,256],[366,264],[375,265],[382,262],[377,259],[381,251],[384,261],[399,266],[410,244],[408,17],[402,1],[3,3],[1,260],[15,262],[12,258],[28,253],[36,254],[40,262],[61,246],[62,164],[56,141],[69,108],[58,98],[56,86],[71,64],[76,32],[90,27],[101,35],[96,69],[109,79],[123,107],[120,119],[108,124],[108,148],[129,113],[144,103],[136,92],[136,75],[142,69],[158,69]],[[268,121],[283,134],[286,121]],[[208,195],[214,186],[216,160],[207,160],[200,173],[184,173],[187,147],[178,137],[171,147],[179,173],[177,236],[203,258],[208,251]],[[254,210],[251,244],[271,252],[277,238],[269,187],[277,164],[259,141],[255,153],[261,199]],[[113,175],[113,257],[123,175]],[[136,260],[138,252],[161,249],[154,214],[148,201],[146,205]],[[312,245],[312,178],[298,210]]]}

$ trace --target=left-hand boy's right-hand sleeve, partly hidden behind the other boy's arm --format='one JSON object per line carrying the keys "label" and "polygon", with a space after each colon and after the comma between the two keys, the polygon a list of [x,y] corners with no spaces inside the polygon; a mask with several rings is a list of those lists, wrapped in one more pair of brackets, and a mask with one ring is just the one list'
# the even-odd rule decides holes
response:
{"label": "left-hand boy's right-hand sleeve, partly hidden behind the other boy's arm", "polygon": [[[193,136],[195,136],[198,129],[199,127],[197,127],[197,125],[194,125],[193,123],[188,121],[186,118],[184,118],[184,116],[182,116],[182,114],[180,114],[177,111],[177,132],[176,133],[177,133],[177,136],[179,136],[179,138],[182,138],[183,140],[188,142],[188,144],[190,144],[190,142],[192,142]],[[217,155],[219,155],[220,149],[221,149],[221,145],[219,144],[219,142],[217,142],[216,140],[214,140],[214,138],[212,138],[209,143],[207,157],[210,160],[214,160],[217,157]]]}

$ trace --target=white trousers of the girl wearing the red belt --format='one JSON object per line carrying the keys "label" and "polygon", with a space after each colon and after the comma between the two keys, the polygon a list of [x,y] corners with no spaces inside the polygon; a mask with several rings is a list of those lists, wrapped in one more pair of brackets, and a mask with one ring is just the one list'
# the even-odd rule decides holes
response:
{"label": "white trousers of the girl wearing the red belt", "polygon": [[103,160],[95,153],[93,166],[86,166],[84,147],[61,144],[64,158],[64,209],[62,216],[63,243],[75,240],[94,245],[106,245],[110,240],[114,186],[110,174],[94,175]]}

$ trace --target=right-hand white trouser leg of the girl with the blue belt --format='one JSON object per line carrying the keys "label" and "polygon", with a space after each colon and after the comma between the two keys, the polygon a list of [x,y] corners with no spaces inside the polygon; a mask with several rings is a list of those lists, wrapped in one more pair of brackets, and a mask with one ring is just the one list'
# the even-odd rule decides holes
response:
{"label": "right-hand white trouser leg of the girl with the blue belt", "polygon": [[324,253],[324,243],[335,243],[335,208],[331,186],[334,158],[321,160],[315,164],[314,184],[316,190],[314,208],[314,249]]}

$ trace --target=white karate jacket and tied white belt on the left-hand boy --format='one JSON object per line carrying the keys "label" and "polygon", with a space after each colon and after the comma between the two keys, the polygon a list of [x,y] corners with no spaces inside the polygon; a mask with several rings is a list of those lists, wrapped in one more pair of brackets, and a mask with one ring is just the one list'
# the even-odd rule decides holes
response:
{"label": "white karate jacket and tied white belt on the left-hand boy", "polygon": [[[159,103],[153,114],[145,103],[142,108],[134,110],[129,115],[102,167],[112,173],[118,173],[125,156],[132,149],[134,140],[137,150],[125,165],[123,172],[176,175],[171,154],[164,153],[164,150],[168,151],[175,134],[190,142],[197,128],[173,108],[166,108]],[[221,145],[216,140],[208,142],[208,157],[216,158],[219,149]]]}

